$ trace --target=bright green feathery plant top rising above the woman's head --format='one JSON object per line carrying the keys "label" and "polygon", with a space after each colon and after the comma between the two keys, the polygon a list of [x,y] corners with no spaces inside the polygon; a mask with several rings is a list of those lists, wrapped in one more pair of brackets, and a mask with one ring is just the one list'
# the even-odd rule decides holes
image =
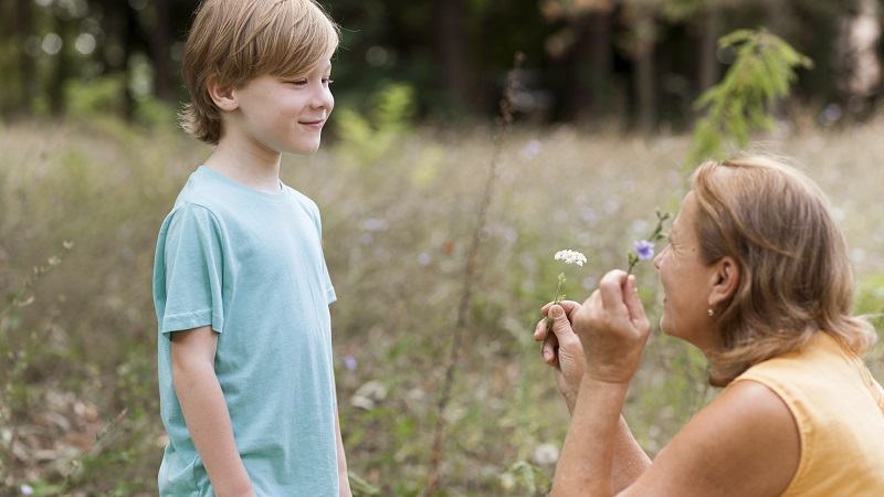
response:
{"label": "bright green feathery plant top rising above the woman's head", "polygon": [[718,44],[722,50],[734,51],[736,59],[724,80],[694,104],[705,116],[694,130],[688,168],[722,158],[728,152],[727,145],[744,148],[753,131],[770,128],[769,109],[789,95],[796,70],[812,67],[810,59],[764,29],[735,31]]}

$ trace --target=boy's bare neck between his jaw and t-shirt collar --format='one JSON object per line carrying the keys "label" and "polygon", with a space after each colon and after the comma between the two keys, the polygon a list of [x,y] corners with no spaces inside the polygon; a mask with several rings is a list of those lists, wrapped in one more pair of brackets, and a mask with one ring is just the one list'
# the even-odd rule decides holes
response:
{"label": "boy's bare neck between his jaw and t-shirt collar", "polygon": [[267,193],[280,192],[282,154],[253,138],[224,134],[204,165],[228,178]]}

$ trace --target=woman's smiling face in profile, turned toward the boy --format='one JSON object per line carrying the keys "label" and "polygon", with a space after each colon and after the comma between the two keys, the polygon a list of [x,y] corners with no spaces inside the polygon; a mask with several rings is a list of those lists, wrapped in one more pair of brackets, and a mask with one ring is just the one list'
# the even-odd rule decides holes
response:
{"label": "woman's smiling face in profile, turned toward the boy", "polygon": [[663,286],[664,334],[694,343],[703,350],[717,348],[715,326],[708,315],[709,294],[715,283],[715,267],[706,266],[696,235],[698,204],[687,193],[670,231],[670,243],[654,257]]}

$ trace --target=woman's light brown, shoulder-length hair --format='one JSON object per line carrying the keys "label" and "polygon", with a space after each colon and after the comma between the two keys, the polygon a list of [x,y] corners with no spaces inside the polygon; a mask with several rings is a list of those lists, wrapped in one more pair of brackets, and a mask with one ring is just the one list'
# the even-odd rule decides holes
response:
{"label": "woman's light brown, shoulder-length hair", "polygon": [[717,307],[723,350],[709,382],[723,387],[750,366],[824,331],[855,353],[876,335],[851,315],[853,275],[829,201],[807,176],[770,157],[709,161],[692,177],[701,257],[733,257],[739,285]]}

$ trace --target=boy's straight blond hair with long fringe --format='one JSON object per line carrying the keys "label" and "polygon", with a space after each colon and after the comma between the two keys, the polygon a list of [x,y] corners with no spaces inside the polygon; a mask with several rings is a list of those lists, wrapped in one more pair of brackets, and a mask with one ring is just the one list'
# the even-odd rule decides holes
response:
{"label": "boy's straight blond hair with long fringe", "polygon": [[179,115],[194,138],[218,144],[221,112],[207,85],[241,87],[271,74],[303,76],[338,46],[338,27],[314,0],[203,0],[185,44],[182,74],[190,94]]}

